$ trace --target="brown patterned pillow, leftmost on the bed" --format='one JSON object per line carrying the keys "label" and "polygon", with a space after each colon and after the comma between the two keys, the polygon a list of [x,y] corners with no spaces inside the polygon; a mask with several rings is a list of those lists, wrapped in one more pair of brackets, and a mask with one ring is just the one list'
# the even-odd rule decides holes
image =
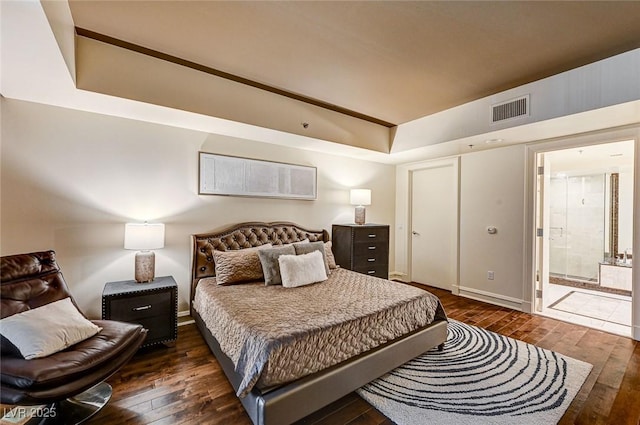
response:
{"label": "brown patterned pillow, leftmost on the bed", "polygon": [[262,280],[264,275],[258,250],[271,247],[272,245],[269,243],[255,248],[213,251],[218,285]]}

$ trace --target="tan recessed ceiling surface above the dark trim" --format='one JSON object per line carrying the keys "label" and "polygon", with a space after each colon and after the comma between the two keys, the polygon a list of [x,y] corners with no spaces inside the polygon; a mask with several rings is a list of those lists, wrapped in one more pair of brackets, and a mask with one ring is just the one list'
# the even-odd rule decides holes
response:
{"label": "tan recessed ceiling surface above the dark trim", "polygon": [[640,2],[69,4],[78,28],[388,126],[640,47]]}

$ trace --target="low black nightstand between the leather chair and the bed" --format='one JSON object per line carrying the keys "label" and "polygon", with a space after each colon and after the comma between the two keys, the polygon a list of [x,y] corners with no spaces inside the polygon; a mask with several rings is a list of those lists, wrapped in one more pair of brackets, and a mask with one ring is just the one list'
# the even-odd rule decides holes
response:
{"label": "low black nightstand between the leather chair and the bed", "polygon": [[102,319],[139,323],[149,332],[142,347],[178,339],[178,285],[172,276],[149,283],[107,282],[102,291]]}

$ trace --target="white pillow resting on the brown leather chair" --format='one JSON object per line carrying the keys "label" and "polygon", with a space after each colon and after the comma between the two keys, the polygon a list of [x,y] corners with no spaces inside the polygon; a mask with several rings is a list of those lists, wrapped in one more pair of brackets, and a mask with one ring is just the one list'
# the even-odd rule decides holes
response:
{"label": "white pillow resting on the brown leather chair", "polygon": [[0,334],[11,341],[25,359],[57,353],[101,330],[78,311],[71,298],[0,320]]}

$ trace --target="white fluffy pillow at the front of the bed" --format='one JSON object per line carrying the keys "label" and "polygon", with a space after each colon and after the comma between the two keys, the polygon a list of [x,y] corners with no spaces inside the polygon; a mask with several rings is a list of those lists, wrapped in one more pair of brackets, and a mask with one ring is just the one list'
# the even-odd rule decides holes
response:
{"label": "white fluffy pillow at the front of the bed", "polygon": [[324,259],[320,251],[313,251],[302,255],[281,255],[278,257],[282,286],[295,288],[296,286],[327,280]]}

